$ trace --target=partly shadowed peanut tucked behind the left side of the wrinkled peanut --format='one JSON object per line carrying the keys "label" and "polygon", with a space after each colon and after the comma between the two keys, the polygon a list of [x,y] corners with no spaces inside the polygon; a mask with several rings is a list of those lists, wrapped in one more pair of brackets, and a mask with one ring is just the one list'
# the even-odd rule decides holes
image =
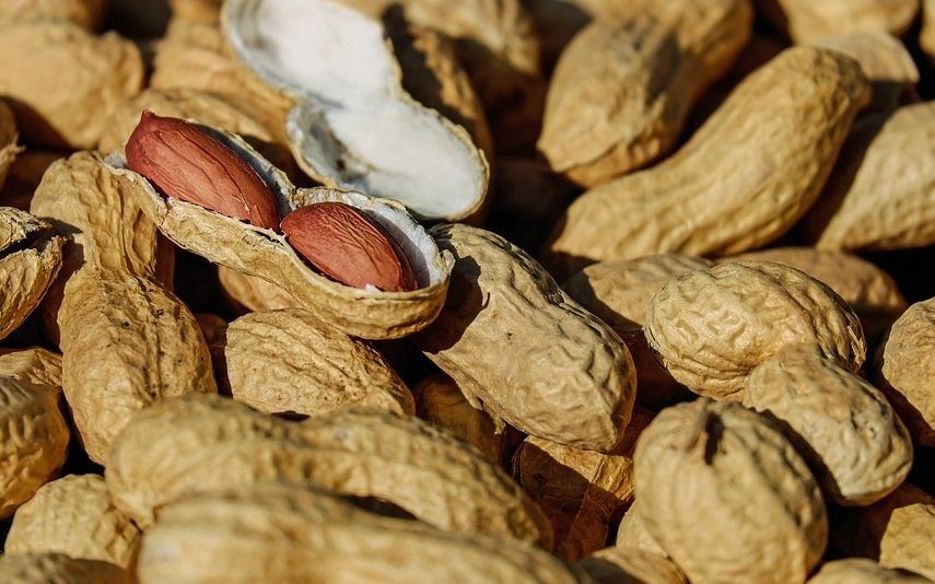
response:
{"label": "partly shadowed peanut tucked behind the left side of the wrinkled peanut", "polygon": [[709,267],[710,261],[690,256],[646,256],[594,264],[562,284],[575,302],[610,325],[627,343],[636,365],[636,401],[645,407],[659,409],[691,395],[650,351],[643,335],[650,302],[676,276]]}

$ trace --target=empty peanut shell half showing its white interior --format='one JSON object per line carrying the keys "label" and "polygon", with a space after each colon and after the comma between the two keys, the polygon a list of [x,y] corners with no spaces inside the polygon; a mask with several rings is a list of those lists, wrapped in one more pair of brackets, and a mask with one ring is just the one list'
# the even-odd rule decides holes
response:
{"label": "empty peanut shell half showing its white interior", "polygon": [[405,94],[378,22],[329,0],[229,0],[224,20],[244,62],[299,100],[287,131],[317,174],[428,219],[478,206],[482,154]]}

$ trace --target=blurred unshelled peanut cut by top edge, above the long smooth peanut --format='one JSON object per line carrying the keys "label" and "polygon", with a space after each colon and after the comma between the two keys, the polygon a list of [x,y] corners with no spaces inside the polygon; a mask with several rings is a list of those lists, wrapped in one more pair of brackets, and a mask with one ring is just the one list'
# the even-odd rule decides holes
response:
{"label": "blurred unshelled peanut cut by top edge, above the long smooth peanut", "polygon": [[588,187],[641,168],[679,138],[696,100],[750,39],[749,0],[635,2],[562,52],[538,149]]}

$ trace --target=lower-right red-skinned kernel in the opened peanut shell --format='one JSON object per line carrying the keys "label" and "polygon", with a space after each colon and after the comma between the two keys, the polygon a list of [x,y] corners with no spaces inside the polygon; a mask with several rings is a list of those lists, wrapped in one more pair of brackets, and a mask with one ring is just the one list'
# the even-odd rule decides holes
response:
{"label": "lower-right red-skinned kernel in the opened peanut shell", "polygon": [[416,288],[409,258],[396,240],[363,211],[342,202],[319,202],[282,220],[289,244],[328,278],[384,292]]}

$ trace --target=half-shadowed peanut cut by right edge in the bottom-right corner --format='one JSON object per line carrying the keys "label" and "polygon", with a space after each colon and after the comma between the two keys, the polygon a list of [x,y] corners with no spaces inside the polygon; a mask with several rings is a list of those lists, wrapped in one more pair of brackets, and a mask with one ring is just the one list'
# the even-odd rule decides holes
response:
{"label": "half-shadowed peanut cut by right edge in the bottom-right corner", "polygon": [[903,483],[892,494],[868,507],[850,507],[832,537],[846,554],[879,561],[935,580],[935,499]]}

